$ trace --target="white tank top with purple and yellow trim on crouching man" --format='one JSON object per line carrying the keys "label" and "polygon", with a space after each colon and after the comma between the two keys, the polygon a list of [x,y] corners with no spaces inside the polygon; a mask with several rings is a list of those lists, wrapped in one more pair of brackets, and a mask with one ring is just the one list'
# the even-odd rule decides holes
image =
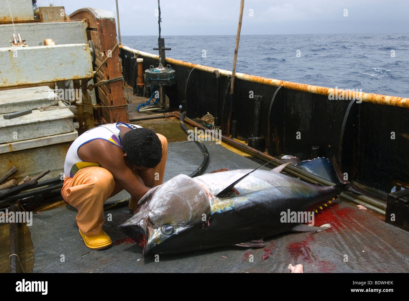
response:
{"label": "white tank top with purple and yellow trim on crouching man", "polygon": [[67,156],[65,156],[64,177],[72,178],[76,172],[85,167],[100,166],[98,162],[85,162],[79,158],[78,149],[85,143],[95,139],[103,139],[122,149],[119,126],[126,126],[130,129],[141,127],[136,124],[129,124],[125,122],[107,123],[100,125],[99,127],[89,129],[82,135],[78,136],[78,138],[74,140],[68,149]]}

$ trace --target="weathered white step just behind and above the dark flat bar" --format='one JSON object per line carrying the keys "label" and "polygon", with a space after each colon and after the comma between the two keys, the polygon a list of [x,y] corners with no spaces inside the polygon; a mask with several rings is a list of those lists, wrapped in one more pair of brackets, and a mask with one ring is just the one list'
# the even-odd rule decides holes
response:
{"label": "weathered white step just behind and above the dark flat bar", "polygon": [[55,106],[57,95],[48,86],[0,91],[0,114]]}

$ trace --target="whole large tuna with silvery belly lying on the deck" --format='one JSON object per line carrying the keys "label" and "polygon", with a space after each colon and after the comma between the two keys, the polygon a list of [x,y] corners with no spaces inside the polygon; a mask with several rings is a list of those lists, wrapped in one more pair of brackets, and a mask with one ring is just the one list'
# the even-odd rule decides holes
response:
{"label": "whole large tuna with silvery belly lying on the deck", "polygon": [[[220,197],[229,183],[246,174]],[[240,243],[254,247],[260,243],[254,240],[278,233],[327,229],[290,221],[286,215],[313,213],[346,186],[316,186],[268,170],[231,170],[196,178],[180,174],[149,190],[133,217],[120,227],[135,241],[143,234],[144,257]]]}

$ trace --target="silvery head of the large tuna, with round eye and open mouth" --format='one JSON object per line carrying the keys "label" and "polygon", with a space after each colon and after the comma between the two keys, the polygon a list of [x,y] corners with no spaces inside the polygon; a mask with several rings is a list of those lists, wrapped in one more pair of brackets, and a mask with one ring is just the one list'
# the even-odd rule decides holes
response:
{"label": "silvery head of the large tuna, with round eye and open mouth", "polygon": [[139,200],[133,217],[120,227],[135,241],[144,235],[145,257],[162,253],[169,247],[167,241],[202,223],[203,216],[210,216],[206,191],[192,178],[180,174],[149,190]]}

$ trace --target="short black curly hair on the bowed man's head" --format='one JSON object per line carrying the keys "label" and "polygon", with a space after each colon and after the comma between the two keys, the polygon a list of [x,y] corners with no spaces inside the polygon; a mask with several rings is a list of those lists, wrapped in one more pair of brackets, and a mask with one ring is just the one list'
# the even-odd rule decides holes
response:
{"label": "short black curly hair on the bowed man's head", "polygon": [[152,168],[162,158],[162,143],[158,136],[143,127],[126,132],[122,138],[122,148],[129,160],[137,166]]}

